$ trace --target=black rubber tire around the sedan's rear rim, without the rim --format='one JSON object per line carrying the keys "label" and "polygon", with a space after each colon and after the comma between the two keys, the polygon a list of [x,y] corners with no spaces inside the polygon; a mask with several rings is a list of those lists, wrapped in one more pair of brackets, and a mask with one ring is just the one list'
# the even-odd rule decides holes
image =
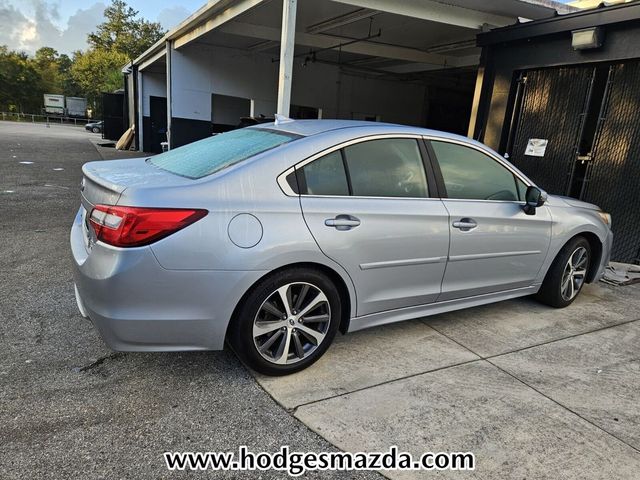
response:
{"label": "black rubber tire around the sedan's rear rim, without the rim", "polygon": [[[295,282],[306,282],[324,292],[331,308],[331,323],[322,343],[307,358],[291,365],[276,365],[260,355],[253,341],[253,322],[264,301],[278,288]],[[252,369],[266,375],[286,375],[303,370],[317,361],[331,345],[342,317],[340,295],[333,282],[322,272],[312,269],[290,269],[276,272],[260,281],[243,299],[234,318],[231,344],[236,354]]]}

